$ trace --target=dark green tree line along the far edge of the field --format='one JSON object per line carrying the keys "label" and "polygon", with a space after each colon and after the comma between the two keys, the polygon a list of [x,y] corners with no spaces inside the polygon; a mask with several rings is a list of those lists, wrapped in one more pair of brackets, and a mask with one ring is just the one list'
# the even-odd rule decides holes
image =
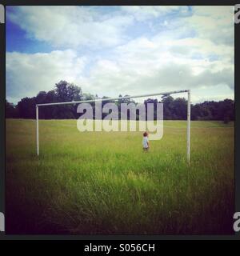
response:
{"label": "dark green tree line along the far edge of the field", "polygon": [[[127,95],[124,95],[127,96]],[[122,97],[119,95],[118,97]],[[81,100],[93,100],[98,95],[82,93],[79,86],[66,81],[60,81],[55,84],[54,90],[40,91],[37,96],[32,98],[22,98],[17,105],[6,101],[6,118],[36,118],[36,104],[49,102],[71,102]],[[108,98],[106,96],[102,98]],[[110,102],[110,101],[106,101]],[[102,105],[106,102],[102,102]],[[134,102],[131,99],[119,99],[116,104],[119,110],[122,102]],[[148,98],[144,103],[154,103],[154,115],[156,115],[156,106],[158,99]],[[172,98],[170,95],[164,95],[163,117],[165,120],[185,120],[187,101],[185,98]],[[90,103],[94,109],[94,102]],[[39,111],[39,118],[42,119],[70,119],[79,118],[81,114],[77,113],[77,105],[62,106],[42,106]],[[104,118],[106,114],[102,114]],[[137,114],[138,116],[138,114]],[[234,101],[225,99],[219,102],[205,101],[202,103],[191,104],[191,120],[219,120],[223,122],[234,121]]]}

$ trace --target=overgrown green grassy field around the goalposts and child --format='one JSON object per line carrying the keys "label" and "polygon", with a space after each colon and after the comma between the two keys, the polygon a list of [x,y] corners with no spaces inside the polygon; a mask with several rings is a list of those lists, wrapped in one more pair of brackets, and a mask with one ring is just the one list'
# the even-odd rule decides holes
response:
{"label": "overgrown green grassy field around the goalposts and child", "polygon": [[234,123],[165,121],[142,132],[85,132],[76,120],[6,120],[7,234],[231,234]]}

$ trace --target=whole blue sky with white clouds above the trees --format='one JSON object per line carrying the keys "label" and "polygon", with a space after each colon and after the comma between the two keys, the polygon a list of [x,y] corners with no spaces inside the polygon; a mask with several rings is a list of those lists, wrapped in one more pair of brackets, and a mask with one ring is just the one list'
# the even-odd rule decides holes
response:
{"label": "whole blue sky with white clouds above the trees", "polygon": [[60,80],[100,97],[234,98],[234,7],[7,6],[7,100]]}

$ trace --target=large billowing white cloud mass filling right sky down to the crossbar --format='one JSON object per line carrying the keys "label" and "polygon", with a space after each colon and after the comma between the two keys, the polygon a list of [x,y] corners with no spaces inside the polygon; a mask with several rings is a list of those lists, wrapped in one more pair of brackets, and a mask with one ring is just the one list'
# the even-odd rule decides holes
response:
{"label": "large billowing white cloud mass filling right sky down to the crossbar", "polygon": [[[86,83],[110,96],[181,89],[206,93],[206,86],[209,97],[215,98],[219,86],[229,96],[234,93],[233,50],[204,38],[135,38],[118,46],[110,61],[93,66]],[[217,58],[212,60],[213,56]]]}

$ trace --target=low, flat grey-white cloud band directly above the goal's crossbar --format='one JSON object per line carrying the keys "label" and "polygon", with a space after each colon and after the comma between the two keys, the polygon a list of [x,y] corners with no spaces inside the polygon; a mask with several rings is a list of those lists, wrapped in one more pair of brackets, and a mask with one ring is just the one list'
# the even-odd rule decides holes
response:
{"label": "low, flat grey-white cloud band directly above the goal's crossbar", "polygon": [[[105,65],[103,64],[105,63]],[[98,94],[105,92],[107,95],[117,94],[146,94],[157,91],[202,89],[210,97],[218,90],[218,86],[226,86],[230,93],[234,86],[232,70],[213,72],[204,70],[194,74],[194,69],[189,65],[169,62],[168,65],[158,66],[125,66],[122,63],[98,62],[94,67],[90,78],[86,81],[91,90]],[[209,90],[206,88],[210,88]],[[214,92],[215,91],[215,92]]]}

